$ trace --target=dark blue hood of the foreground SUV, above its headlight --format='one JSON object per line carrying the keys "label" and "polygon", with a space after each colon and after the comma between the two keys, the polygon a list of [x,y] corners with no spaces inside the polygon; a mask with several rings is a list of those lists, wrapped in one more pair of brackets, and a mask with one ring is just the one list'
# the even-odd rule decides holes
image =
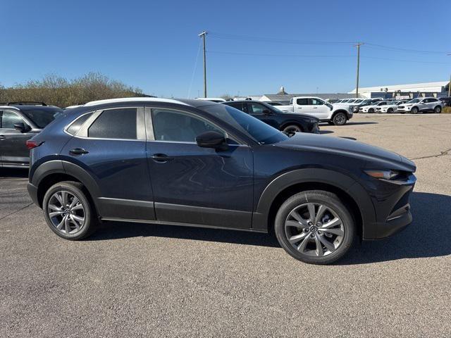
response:
{"label": "dark blue hood of the foreground SUV, above its headlight", "polygon": [[[386,169],[404,170],[413,173],[416,170],[415,163],[399,154],[393,153],[378,146],[371,146],[362,142],[344,139],[341,137],[329,137],[321,134],[297,133],[295,136],[283,142],[274,144],[285,149],[299,151],[319,151],[361,158],[367,163],[379,162]],[[383,169],[385,169],[383,168]]]}

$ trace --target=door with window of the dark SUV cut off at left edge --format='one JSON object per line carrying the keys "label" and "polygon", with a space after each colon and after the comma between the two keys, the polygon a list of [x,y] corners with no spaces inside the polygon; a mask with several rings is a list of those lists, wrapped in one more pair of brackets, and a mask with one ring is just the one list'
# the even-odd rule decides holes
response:
{"label": "door with window of the dark SUV cut off at left edge", "polygon": [[[29,131],[20,132],[14,128],[16,123],[23,123]],[[30,151],[25,142],[36,133],[31,132],[30,123],[16,111],[4,109],[0,118],[0,162],[4,166],[27,166],[30,162]]]}

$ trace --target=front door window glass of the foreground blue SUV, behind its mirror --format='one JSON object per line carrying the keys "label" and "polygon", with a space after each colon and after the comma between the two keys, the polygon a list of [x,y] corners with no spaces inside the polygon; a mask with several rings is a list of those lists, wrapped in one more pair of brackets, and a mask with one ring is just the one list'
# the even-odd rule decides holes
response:
{"label": "front door window glass of the foreground blue SUV, behind its mirror", "polygon": [[226,137],[225,132],[208,121],[171,109],[152,109],[152,125],[156,141],[196,142],[199,134],[209,131],[219,132]]}

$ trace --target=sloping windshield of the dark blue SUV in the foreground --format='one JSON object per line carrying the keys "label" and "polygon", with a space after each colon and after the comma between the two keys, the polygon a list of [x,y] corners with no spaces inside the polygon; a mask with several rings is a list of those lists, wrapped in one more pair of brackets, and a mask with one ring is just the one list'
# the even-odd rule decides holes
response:
{"label": "sloping windshield of the dark blue SUV in the foreground", "polygon": [[273,144],[288,139],[283,132],[233,107],[215,104],[214,106],[204,106],[202,110],[220,118],[260,144]]}

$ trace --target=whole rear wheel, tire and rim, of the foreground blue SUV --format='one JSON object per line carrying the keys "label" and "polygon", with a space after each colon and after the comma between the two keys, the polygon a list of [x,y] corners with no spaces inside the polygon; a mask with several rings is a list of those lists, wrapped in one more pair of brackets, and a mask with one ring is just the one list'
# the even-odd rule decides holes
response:
{"label": "whole rear wheel, tire and rim, of the foreground blue SUV", "polygon": [[96,218],[83,185],[58,182],[44,195],[42,211],[50,229],[64,239],[82,239],[92,234]]}

